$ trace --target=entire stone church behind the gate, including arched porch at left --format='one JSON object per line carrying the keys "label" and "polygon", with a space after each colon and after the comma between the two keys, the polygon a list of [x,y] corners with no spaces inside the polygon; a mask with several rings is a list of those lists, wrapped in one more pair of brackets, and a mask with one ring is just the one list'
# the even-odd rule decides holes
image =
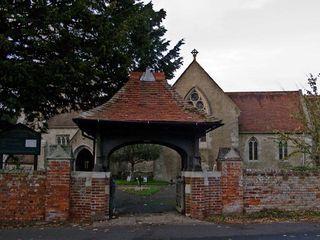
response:
{"label": "entire stone church behind the gate, including arched porch at left", "polygon": [[[292,144],[279,141],[277,134],[304,136],[303,125],[295,118],[304,109],[300,90],[225,92],[198,63],[197,52],[192,53],[193,61],[172,88],[186,102],[223,123],[222,127],[199,139],[202,169],[216,169],[219,149],[224,147],[237,149],[245,168],[281,169],[304,164],[306,156],[289,156]],[[62,145],[73,155],[74,170],[92,171],[95,140],[84,135],[72,121],[77,114],[64,113],[49,119],[48,133],[42,136],[39,168],[44,167],[50,146]],[[179,175],[179,158],[174,150],[164,147],[151,171],[159,179],[172,179]]]}

